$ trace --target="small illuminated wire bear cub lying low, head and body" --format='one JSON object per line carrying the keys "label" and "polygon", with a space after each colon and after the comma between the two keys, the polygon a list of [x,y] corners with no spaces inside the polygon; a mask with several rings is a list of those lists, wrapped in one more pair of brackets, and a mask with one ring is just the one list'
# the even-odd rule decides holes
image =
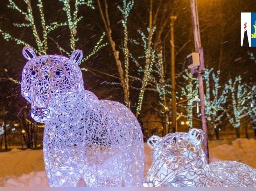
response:
{"label": "small illuminated wire bear cub lying low, head and body", "polygon": [[143,180],[145,187],[255,187],[256,169],[235,161],[206,163],[201,148],[203,132],[152,136],[153,162]]}

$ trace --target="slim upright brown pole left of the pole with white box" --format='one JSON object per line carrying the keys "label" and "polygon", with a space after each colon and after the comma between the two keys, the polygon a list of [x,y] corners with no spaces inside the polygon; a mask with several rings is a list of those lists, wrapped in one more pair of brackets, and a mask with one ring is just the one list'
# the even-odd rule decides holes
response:
{"label": "slim upright brown pole left of the pole with white box", "polygon": [[[172,130],[177,132],[176,124],[176,95],[175,95],[175,52],[174,52],[174,21],[176,16],[171,16],[171,78],[172,78]],[[168,132],[167,132],[168,133]]]}

